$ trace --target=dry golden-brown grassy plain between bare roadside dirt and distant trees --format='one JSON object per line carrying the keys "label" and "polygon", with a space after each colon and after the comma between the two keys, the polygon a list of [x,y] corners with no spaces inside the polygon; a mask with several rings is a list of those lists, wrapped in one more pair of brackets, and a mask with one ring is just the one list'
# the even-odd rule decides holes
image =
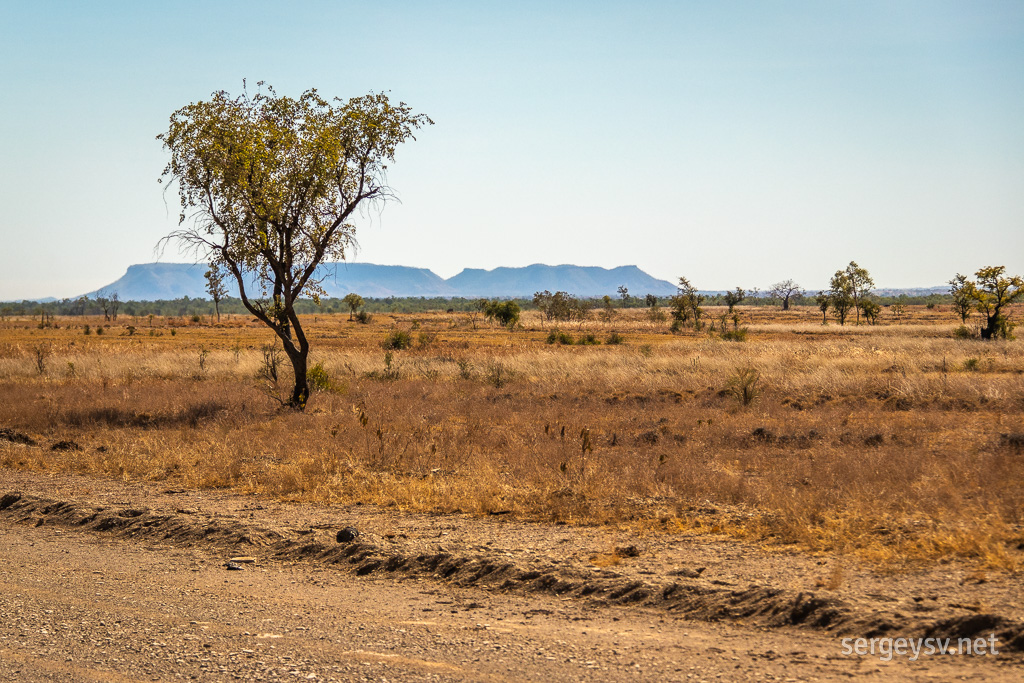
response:
{"label": "dry golden-brown grassy plain between bare roadside dirt and distant trees", "polygon": [[[536,312],[511,333],[464,313],[308,316],[328,381],[303,414],[273,397],[287,364],[279,386],[260,377],[271,336],[248,317],[8,318],[0,468],[1017,570],[1024,342],[955,339],[949,310],[909,308],[840,327],[743,307],[744,342],[643,310],[561,328],[624,338],[590,346],[548,344]],[[414,345],[386,356],[395,329]]]}

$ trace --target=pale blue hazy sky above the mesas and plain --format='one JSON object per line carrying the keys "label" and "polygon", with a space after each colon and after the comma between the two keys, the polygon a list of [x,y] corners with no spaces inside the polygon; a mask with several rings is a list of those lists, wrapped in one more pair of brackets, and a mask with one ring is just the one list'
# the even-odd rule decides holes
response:
{"label": "pale blue hazy sky above the mesas and plain", "polygon": [[[436,125],[355,260],[637,264],[700,289],[1024,273],[1024,2],[0,0],[0,299],[175,227],[155,136],[242,79]],[[168,250],[165,261],[184,261]]]}

